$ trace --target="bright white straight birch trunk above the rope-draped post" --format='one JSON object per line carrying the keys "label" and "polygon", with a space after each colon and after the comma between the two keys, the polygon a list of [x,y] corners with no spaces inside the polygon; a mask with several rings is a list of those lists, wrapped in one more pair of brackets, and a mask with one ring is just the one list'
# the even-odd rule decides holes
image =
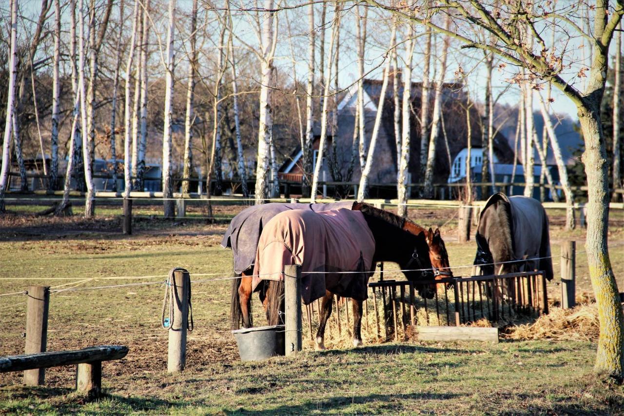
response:
{"label": "bright white straight birch trunk above the rope-draped post", "polygon": [[[167,30],[167,71],[165,76],[165,122],[162,137],[162,197],[165,218],[173,218],[173,181],[171,169],[172,152],[172,99],[173,99],[173,49],[175,29],[175,0],[169,0],[169,24]],[[208,178],[210,184],[210,178]]]}

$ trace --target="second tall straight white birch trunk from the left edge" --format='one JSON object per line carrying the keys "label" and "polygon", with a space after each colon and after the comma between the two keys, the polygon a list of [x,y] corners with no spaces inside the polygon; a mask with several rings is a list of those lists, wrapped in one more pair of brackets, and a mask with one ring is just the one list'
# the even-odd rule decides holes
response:
{"label": "second tall straight white birch trunk from the left edge", "polygon": [[[54,62],[52,63],[52,128],[48,191],[55,191],[59,175],[59,66],[61,65],[61,0],[54,0]],[[45,161],[44,161],[45,166]]]}

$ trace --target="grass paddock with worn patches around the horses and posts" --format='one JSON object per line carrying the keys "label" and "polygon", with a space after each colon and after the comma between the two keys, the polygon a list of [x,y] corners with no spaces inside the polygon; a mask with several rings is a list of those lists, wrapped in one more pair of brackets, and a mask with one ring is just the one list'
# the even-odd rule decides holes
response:
{"label": "grass paddock with worn patches around the horses and posts", "polygon": [[[149,212],[157,208],[139,207]],[[218,208],[233,215],[236,208]],[[154,210],[154,211],[152,211]],[[196,329],[189,334],[187,370],[166,372],[167,332],[160,328],[163,287],[172,267],[193,280],[228,276],[231,254],[220,240],[225,224],[202,220],[140,219],[135,234],[120,234],[114,208],[95,220],[6,215],[0,219],[0,294],[31,284],[69,289],[52,294],[48,349],[124,344],[124,360],[104,364],[105,399],[87,402],[72,392],[74,369],[46,371],[46,387],[20,385],[21,374],[0,375],[4,413],[622,413],[624,390],[593,375],[591,342],[386,343],[360,349],[313,352],[259,363],[241,363],[229,331],[229,282],[193,284]],[[155,214],[152,214],[155,215]],[[200,215],[198,213],[198,215]],[[444,225],[451,265],[472,262],[474,243],[454,238],[454,210],[412,210],[423,225]],[[216,216],[216,215],[215,215]],[[578,240],[583,230],[563,232],[551,214],[553,255],[560,241]],[[624,288],[624,230],[614,218],[610,255]],[[620,247],[620,248],[618,248]],[[558,263],[558,260],[554,260]],[[466,275],[469,269],[455,269]],[[555,264],[558,272],[558,264]],[[119,277],[124,276],[123,279]],[[135,278],[136,276],[146,276]],[[71,280],[62,280],[71,278]],[[86,280],[93,279],[93,280]],[[578,294],[591,297],[587,264],[577,257]],[[76,285],[68,282],[86,280]],[[548,285],[558,299],[557,277]],[[154,283],[98,290],[90,287]],[[256,302],[256,322],[262,324]],[[0,297],[0,355],[24,348],[26,298]],[[329,341],[329,340],[328,340]],[[366,340],[365,340],[366,342]],[[328,342],[328,346],[331,346]]]}

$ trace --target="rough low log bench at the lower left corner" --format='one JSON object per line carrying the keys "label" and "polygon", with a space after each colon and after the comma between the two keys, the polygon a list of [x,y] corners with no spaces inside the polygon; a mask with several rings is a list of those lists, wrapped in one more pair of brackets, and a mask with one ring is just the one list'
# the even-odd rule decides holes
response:
{"label": "rough low log bench at the lower left corner", "polygon": [[124,345],[100,345],[82,350],[9,355],[0,357],[0,373],[77,364],[76,390],[99,397],[102,393],[102,361],[119,360],[126,354],[128,347]]}

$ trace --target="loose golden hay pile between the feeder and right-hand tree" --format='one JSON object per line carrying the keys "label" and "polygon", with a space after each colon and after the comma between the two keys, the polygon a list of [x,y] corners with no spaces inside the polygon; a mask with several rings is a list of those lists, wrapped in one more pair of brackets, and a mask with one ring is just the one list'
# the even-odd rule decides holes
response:
{"label": "loose golden hay pile between the feeder and right-hand tree", "polygon": [[598,340],[598,309],[596,304],[579,305],[574,309],[552,308],[532,324],[507,327],[504,337],[514,340]]}

